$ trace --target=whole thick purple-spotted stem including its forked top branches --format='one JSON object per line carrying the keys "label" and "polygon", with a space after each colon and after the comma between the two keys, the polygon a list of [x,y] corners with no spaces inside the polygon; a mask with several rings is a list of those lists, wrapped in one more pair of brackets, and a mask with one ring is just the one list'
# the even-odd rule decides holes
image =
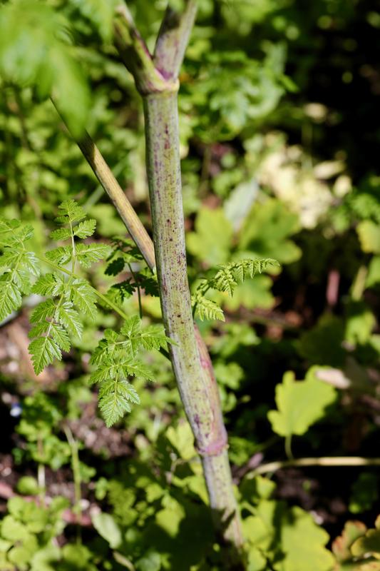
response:
{"label": "whole thick purple-spotted stem including its forked top branches", "polygon": [[150,56],[130,14],[120,11],[115,42],[143,97],[150,208],[160,303],[175,379],[202,456],[215,525],[241,568],[242,531],[227,456],[227,434],[210,356],[192,322],[185,252],[178,133],[178,70],[195,19],[196,0],[182,14],[167,9]]}

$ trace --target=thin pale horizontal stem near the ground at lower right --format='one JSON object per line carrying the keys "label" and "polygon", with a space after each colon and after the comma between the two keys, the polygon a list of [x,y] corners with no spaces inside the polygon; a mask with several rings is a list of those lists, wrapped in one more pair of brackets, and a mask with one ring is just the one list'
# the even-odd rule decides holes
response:
{"label": "thin pale horizontal stem near the ground at lower right", "polygon": [[380,466],[380,458],[363,458],[361,456],[322,456],[320,458],[297,458],[294,460],[282,460],[279,462],[269,462],[255,468],[247,474],[251,479],[259,474],[268,474],[282,470],[282,468],[302,468],[302,466]]}

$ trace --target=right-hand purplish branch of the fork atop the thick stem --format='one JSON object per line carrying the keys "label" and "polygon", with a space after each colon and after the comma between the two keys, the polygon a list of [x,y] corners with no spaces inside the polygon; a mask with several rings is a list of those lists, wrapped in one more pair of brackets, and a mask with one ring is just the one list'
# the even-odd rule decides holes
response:
{"label": "right-hand purplish branch of the fork atop the thick stem", "polygon": [[156,69],[168,81],[178,78],[196,14],[197,0],[187,0],[182,14],[170,6],[166,9],[153,60]]}

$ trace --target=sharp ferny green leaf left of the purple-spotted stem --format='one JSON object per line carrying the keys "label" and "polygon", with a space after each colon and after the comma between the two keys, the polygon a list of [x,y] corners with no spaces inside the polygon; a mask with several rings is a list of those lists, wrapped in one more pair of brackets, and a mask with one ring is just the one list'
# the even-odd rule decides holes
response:
{"label": "sharp ferny green leaf left of the purple-spotted stem", "polygon": [[[160,325],[141,328],[138,316],[128,318],[111,298],[98,292],[86,278],[77,275],[78,268],[87,269],[106,258],[110,248],[103,243],[81,242],[93,235],[96,221],[86,219],[78,203],[68,200],[58,208],[56,223],[61,228],[51,232],[50,236],[54,240],[68,241],[68,245],[48,251],[46,258],[38,257],[27,249],[27,242],[33,236],[30,225],[22,226],[16,220],[0,221],[0,246],[3,250],[0,256],[3,271],[0,276],[0,320],[21,307],[24,295],[34,293],[46,298],[38,303],[30,316],[33,327],[29,336],[33,340],[29,353],[38,375],[54,360],[61,360],[62,352],[70,350],[72,337],[81,338],[83,317],[95,317],[98,298],[116,310],[125,322],[120,333],[110,329],[104,332],[104,338],[91,358],[96,370],[90,378],[91,383],[99,385],[100,408],[106,425],[111,426],[130,412],[132,404],[140,402],[128,378],[138,376],[153,380],[153,373],[138,360],[139,351],[167,348],[170,339],[164,335]],[[118,241],[117,248],[111,253],[111,258],[114,258],[115,251],[122,253],[117,258],[123,261],[119,271],[125,261],[129,263],[138,257],[133,250],[126,253],[126,244],[122,244],[123,250]],[[46,264],[54,271],[41,275],[41,268]],[[115,261],[111,260],[108,273],[114,273],[114,268]],[[31,285],[34,279],[36,281]],[[144,285],[144,278],[141,278],[141,283]]]}

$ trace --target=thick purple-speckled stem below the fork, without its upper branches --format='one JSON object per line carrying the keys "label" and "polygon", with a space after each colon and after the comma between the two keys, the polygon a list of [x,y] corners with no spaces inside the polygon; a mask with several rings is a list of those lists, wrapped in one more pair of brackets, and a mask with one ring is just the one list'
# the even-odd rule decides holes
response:
{"label": "thick purple-speckled stem below the fork, without its upper branches", "polygon": [[[173,86],[173,84],[171,84]],[[177,90],[144,94],[145,136],[155,263],[173,370],[202,455],[210,505],[227,542],[242,545],[227,458],[227,435],[207,350],[197,344],[185,253]]]}

